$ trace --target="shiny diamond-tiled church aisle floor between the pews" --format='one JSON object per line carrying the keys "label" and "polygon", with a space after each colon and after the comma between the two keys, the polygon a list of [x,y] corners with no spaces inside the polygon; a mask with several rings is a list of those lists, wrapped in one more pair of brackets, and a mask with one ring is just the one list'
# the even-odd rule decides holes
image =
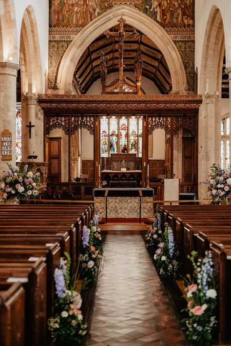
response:
{"label": "shiny diamond-tiled church aisle floor between the pews", "polygon": [[140,234],[108,234],[87,346],[187,342]]}

